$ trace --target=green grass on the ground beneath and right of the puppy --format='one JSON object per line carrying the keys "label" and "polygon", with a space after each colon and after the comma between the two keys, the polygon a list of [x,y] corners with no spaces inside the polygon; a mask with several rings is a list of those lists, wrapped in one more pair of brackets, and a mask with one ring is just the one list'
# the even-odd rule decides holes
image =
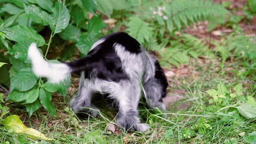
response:
{"label": "green grass on the ground beneath and right of the puppy", "polygon": [[[21,116],[27,127],[42,131],[53,141],[37,141],[27,135],[18,135],[1,126],[0,141],[2,143],[246,143],[252,138],[251,133],[256,130],[256,119],[246,119],[234,109],[222,109],[224,106],[241,104],[248,95],[255,95],[252,77],[237,76],[235,69],[228,73],[228,68],[235,65],[227,63],[224,68],[213,66],[217,63],[212,59],[210,63],[195,61],[195,73],[187,77],[179,77],[181,83],[171,83],[170,93],[185,90],[184,99],[172,105],[172,109],[162,113],[153,110],[140,109],[142,121],[150,124],[152,129],[146,133],[124,131],[118,129],[113,134],[106,127],[107,123],[115,124],[116,111],[102,110],[96,118],[78,119],[72,110],[65,108],[68,103],[54,103],[57,116],[53,117],[40,109],[30,118],[25,107],[19,104],[9,104],[9,113]],[[245,72],[246,73],[246,72]],[[219,82],[224,83],[229,90],[237,83],[243,82],[243,94],[236,99],[229,99],[227,104],[209,104],[208,89],[215,88]],[[232,90],[232,92],[234,92]],[[61,99],[55,95],[54,99]],[[177,109],[181,104],[187,104],[184,109]],[[220,113],[221,112],[221,113]],[[251,136],[251,137],[250,137]]]}

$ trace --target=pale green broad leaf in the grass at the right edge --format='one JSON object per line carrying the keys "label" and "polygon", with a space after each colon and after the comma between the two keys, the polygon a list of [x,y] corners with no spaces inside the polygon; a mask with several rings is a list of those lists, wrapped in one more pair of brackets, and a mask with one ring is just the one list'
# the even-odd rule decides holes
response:
{"label": "pale green broad leaf in the grass at the right edge", "polygon": [[256,118],[256,106],[245,103],[236,107],[236,109],[240,112],[240,114],[243,117]]}

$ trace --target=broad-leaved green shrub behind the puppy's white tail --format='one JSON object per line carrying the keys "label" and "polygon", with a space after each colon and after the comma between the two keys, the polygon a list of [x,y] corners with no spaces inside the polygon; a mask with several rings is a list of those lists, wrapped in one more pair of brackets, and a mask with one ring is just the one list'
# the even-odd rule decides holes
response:
{"label": "broad-leaved green shrub behind the puppy's white tail", "polygon": [[[71,57],[75,47],[82,55],[85,55],[101,35],[102,28],[105,27],[101,15],[96,14],[96,8],[107,16],[110,16],[114,9],[127,8],[126,5],[122,7],[125,1],[112,0],[78,0],[66,3],[51,0],[2,2],[5,3],[1,4],[0,15],[4,19],[1,20],[0,40],[12,65],[9,70],[10,94],[7,100],[25,105],[30,116],[39,109],[40,105],[43,105],[51,115],[55,115],[56,108],[51,104],[52,93],[57,92],[65,96],[66,89],[71,84],[69,79],[59,85],[53,85],[36,77],[27,59],[30,44],[34,42],[42,47],[45,59],[49,49],[61,43],[64,43],[63,51],[69,51],[63,53],[62,57],[66,59]],[[104,7],[105,4],[108,7]],[[88,12],[94,14],[91,19],[87,15]],[[71,50],[67,50],[69,46]],[[49,62],[56,63],[57,61]]]}

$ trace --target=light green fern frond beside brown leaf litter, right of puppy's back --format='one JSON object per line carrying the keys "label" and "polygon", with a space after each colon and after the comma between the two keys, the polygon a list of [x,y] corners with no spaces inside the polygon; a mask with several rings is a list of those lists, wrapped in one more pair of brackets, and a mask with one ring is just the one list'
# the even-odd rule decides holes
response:
{"label": "light green fern frond beside brown leaf litter, right of puppy's back", "polygon": [[197,58],[208,52],[206,44],[192,35],[184,34],[177,40],[171,41],[171,47],[161,55],[160,63],[170,68],[171,64],[179,67],[180,64],[188,64],[189,57]]}

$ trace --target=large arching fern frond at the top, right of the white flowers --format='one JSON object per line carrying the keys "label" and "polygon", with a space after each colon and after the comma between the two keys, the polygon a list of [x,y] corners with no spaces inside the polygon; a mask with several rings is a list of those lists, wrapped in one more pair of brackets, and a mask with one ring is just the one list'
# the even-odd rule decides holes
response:
{"label": "large arching fern frond at the top, right of the white flowers", "polygon": [[173,0],[167,7],[167,28],[174,29],[189,26],[210,16],[226,15],[228,10],[211,0]]}

